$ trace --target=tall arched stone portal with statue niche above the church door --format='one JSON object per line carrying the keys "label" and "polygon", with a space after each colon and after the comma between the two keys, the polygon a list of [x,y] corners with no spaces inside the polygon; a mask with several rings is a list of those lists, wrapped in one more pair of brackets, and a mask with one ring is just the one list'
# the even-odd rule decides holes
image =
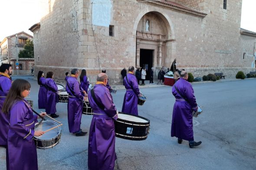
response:
{"label": "tall arched stone portal with statue niche above the church door", "polygon": [[145,67],[149,79],[151,67],[160,68],[171,63],[173,56],[173,28],[159,12],[145,13],[136,29],[136,66]]}

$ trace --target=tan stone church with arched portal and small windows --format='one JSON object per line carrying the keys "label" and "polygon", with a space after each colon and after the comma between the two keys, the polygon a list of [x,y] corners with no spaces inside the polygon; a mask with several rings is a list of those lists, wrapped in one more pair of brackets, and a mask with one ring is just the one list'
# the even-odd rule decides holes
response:
{"label": "tan stone church with arched portal and small windows", "polygon": [[[34,33],[35,73],[62,81],[72,68],[91,82],[106,69],[121,84],[128,66],[177,68],[194,76],[255,71],[256,33],[240,28],[242,0],[49,0]],[[155,79],[157,76],[155,74]]]}

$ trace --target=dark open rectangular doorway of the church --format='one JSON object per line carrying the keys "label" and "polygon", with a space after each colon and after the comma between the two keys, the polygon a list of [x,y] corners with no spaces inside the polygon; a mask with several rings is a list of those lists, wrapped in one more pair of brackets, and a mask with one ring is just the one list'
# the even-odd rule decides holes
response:
{"label": "dark open rectangular doorway of the church", "polygon": [[140,49],[140,67],[146,68],[146,80],[150,79],[150,70],[153,67],[154,50]]}

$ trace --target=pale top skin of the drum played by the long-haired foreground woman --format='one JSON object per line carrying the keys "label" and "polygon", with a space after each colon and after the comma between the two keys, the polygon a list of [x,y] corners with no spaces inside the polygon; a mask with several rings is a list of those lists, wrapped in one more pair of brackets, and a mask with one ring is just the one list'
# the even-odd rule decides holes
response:
{"label": "pale top skin of the drum played by the long-haired foreground woman", "polygon": [[[59,124],[56,122],[53,122],[51,120],[43,120],[41,123],[36,123],[35,125],[35,131],[36,130],[41,130],[41,131],[46,131],[48,129],[51,129],[55,126],[58,126]],[[42,136],[35,137],[40,140],[50,140],[55,138],[57,135],[61,133],[61,127],[59,126],[58,128],[55,128],[53,130],[50,130],[49,132],[46,132]]]}

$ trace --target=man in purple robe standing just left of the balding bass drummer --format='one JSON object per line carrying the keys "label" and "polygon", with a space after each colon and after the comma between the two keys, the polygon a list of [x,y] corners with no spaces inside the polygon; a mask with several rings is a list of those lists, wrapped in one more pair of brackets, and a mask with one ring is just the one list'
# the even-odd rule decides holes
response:
{"label": "man in purple robe standing just left of the balding bass drummer", "polygon": [[[82,119],[83,101],[87,98],[83,96],[83,89],[80,87],[77,78],[79,76],[78,69],[71,70],[71,76],[66,83],[66,91],[69,94],[68,101],[68,123],[69,132],[75,133],[76,136],[84,136],[87,132],[82,132],[80,129]],[[85,91],[84,91],[85,92]]]}

